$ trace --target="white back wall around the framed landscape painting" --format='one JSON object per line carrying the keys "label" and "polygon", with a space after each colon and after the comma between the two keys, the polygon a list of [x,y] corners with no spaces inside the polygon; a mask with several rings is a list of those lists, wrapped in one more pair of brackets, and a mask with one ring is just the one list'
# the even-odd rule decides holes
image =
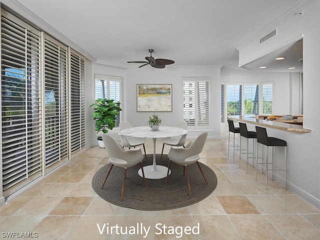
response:
{"label": "white back wall around the framed landscape painting", "polygon": [[[182,77],[211,77],[211,117],[212,127],[206,129],[208,138],[220,137],[220,67],[166,67],[163,69],[145,66],[128,69],[124,80],[124,120],[132,126],[147,125],[149,115],[153,112],[137,112],[136,84],[172,84],[172,111],[158,112],[163,125],[174,126],[182,120]],[[199,134],[200,130],[189,130],[188,138]]]}

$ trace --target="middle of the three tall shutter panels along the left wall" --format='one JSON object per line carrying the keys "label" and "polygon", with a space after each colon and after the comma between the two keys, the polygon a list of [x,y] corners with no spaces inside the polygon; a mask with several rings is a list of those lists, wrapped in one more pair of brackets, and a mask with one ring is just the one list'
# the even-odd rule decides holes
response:
{"label": "middle of the three tall shutter panels along the left wall", "polygon": [[45,167],[68,158],[67,47],[44,39]]}

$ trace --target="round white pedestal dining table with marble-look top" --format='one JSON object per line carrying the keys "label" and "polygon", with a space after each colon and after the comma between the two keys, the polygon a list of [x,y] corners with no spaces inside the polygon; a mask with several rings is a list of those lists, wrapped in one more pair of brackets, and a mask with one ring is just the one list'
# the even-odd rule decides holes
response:
{"label": "round white pedestal dining table with marble-look top", "polygon": [[[166,177],[167,167],[156,165],[155,162],[155,142],[156,138],[181,136],[187,134],[187,130],[174,127],[174,126],[159,126],[158,130],[152,130],[149,126],[136,126],[125,128],[120,131],[119,134],[124,136],[134,136],[143,138],[152,138],[153,140],[153,163],[152,165],[144,166],[144,176],[149,179],[160,179]],[[170,173],[170,172],[169,172]],[[138,174],[142,176],[142,170],[138,171]]]}

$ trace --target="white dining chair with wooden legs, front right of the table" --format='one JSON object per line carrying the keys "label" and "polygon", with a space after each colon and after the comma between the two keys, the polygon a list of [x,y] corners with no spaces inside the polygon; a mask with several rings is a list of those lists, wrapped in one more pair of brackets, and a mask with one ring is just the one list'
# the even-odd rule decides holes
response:
{"label": "white dining chair with wooden legs, front right of the table", "polygon": [[197,136],[197,138],[194,141],[190,141],[185,146],[185,148],[171,146],[169,153],[168,153],[169,165],[168,165],[168,170],[166,173],[165,184],[168,181],[171,161],[174,161],[177,164],[183,165],[183,174],[186,175],[186,181],[188,184],[190,196],[191,196],[191,187],[190,187],[189,173],[188,173],[187,165],[190,165],[190,164],[193,164],[196,162],[196,164],[198,165],[198,167],[200,169],[200,172],[202,173],[202,176],[203,176],[206,184],[208,184],[208,181],[207,181],[207,179],[206,179],[206,177],[200,167],[200,164],[198,162],[198,159],[200,158],[199,153],[203,149],[207,135],[208,135],[207,132],[201,133],[200,135]]}

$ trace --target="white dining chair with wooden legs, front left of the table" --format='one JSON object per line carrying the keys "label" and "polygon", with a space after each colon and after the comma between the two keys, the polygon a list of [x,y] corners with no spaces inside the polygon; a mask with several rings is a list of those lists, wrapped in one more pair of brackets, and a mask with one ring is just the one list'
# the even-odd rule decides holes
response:
{"label": "white dining chair with wooden legs, front left of the table", "polygon": [[111,166],[110,166],[110,168],[109,168],[109,170],[103,180],[103,183],[101,185],[101,189],[103,188],[104,183],[105,183],[106,179],[108,178],[113,165],[123,167],[124,171],[123,171],[121,198],[120,198],[122,201],[125,178],[126,178],[126,170],[128,167],[135,166],[136,164],[138,164],[140,162],[142,176],[143,176],[143,182],[144,182],[144,186],[146,186],[144,171],[143,171],[143,164],[142,164],[143,154],[142,154],[140,147],[124,150],[123,147],[121,147],[119,143],[117,143],[110,135],[108,135],[106,133],[102,134],[102,140],[103,140],[103,144],[105,146],[107,153],[110,155],[109,160],[111,162]]}

